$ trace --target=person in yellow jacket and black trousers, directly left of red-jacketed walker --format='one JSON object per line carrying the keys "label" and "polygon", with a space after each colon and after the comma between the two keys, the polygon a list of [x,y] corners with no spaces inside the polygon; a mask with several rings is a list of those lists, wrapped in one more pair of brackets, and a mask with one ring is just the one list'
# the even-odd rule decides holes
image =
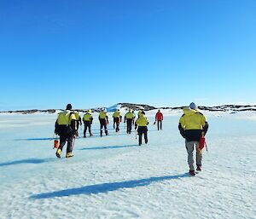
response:
{"label": "person in yellow jacket and black trousers, directly left of red-jacketed walker", "polygon": [[146,118],[145,112],[142,111],[135,122],[135,130],[137,130],[137,134],[139,135],[139,146],[143,143],[143,135],[145,143],[148,144],[148,124],[148,118]]}

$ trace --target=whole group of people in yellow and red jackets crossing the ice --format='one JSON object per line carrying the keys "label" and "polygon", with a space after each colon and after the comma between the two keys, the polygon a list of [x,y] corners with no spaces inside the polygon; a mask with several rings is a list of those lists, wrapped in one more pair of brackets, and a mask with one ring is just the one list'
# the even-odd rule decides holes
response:
{"label": "whole group of people in yellow and red jackets crossing the ice", "polygon": [[[137,131],[138,145],[141,146],[144,141],[148,143],[148,118],[144,111],[138,112],[138,118],[135,120],[136,115],[131,109],[125,113],[124,123],[126,123],[126,133],[131,134],[132,124],[135,125]],[[100,122],[100,135],[108,135],[108,114],[105,109],[99,113],[98,116]],[[162,130],[162,121],[164,117],[160,110],[155,114],[154,124],[157,123],[157,129]],[[88,110],[83,117],[84,122],[84,137],[86,137],[87,129],[90,136],[91,124],[93,117],[91,110]],[[119,124],[122,122],[122,115],[119,109],[113,112],[113,129],[119,132]],[[56,157],[61,158],[62,149],[67,142],[66,158],[73,157],[73,144],[75,136],[78,136],[79,125],[82,125],[82,119],[79,116],[79,112],[72,111],[72,105],[67,104],[66,110],[59,113],[55,122],[55,134],[60,135],[60,144],[56,150]],[[194,102],[190,103],[189,107],[183,108],[183,116],[179,119],[178,130],[185,139],[185,147],[188,153],[189,173],[191,176],[195,176],[194,157],[193,152],[196,149],[196,170],[201,171],[201,149],[199,148],[199,142],[202,136],[207,134],[208,123],[207,118],[197,110]]]}

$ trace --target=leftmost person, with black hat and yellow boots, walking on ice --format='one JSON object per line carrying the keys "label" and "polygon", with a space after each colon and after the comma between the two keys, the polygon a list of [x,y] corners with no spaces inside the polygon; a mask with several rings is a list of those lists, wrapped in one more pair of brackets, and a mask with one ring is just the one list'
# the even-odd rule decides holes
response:
{"label": "leftmost person, with black hat and yellow boots, walking on ice", "polygon": [[66,158],[73,157],[74,134],[76,130],[76,117],[71,111],[72,105],[67,104],[66,110],[59,113],[55,122],[55,134],[60,135],[60,145],[56,151],[57,158],[61,158],[61,152],[67,141]]}

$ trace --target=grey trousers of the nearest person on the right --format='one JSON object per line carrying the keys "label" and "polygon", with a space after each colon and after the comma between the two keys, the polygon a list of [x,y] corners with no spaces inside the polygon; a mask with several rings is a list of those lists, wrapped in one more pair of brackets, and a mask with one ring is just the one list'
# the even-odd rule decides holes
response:
{"label": "grey trousers of the nearest person on the right", "polygon": [[193,157],[194,148],[196,149],[196,165],[201,166],[201,154],[197,150],[197,148],[199,147],[199,141],[187,141],[186,140],[185,146],[186,146],[187,152],[188,152],[189,170],[195,170],[194,157]]}

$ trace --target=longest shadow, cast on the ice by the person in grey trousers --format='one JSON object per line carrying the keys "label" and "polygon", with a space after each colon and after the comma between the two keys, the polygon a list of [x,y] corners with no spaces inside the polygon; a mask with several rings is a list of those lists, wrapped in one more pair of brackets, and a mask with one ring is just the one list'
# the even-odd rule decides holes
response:
{"label": "longest shadow, cast on the ice by the person in grey trousers", "polygon": [[166,180],[177,180],[179,178],[189,177],[188,173],[174,175],[174,176],[159,176],[159,177],[150,177],[148,179],[141,180],[132,180],[125,182],[108,182],[84,187],[74,187],[68,188],[60,191],[55,191],[51,193],[40,193],[32,195],[31,199],[51,199],[55,197],[63,197],[70,195],[79,195],[79,194],[97,194],[97,193],[108,193],[111,191],[116,191],[121,188],[132,188],[132,187],[146,187],[152,182],[160,182]]}

